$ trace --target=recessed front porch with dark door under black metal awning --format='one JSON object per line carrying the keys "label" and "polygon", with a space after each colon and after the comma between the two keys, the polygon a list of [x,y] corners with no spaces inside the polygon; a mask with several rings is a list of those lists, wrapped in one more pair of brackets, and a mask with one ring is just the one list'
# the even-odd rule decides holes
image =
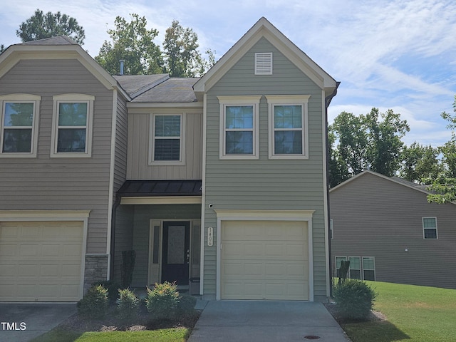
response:
{"label": "recessed front porch with dark door under black metal awning", "polygon": [[[169,281],[176,282],[182,293],[199,294],[200,186],[197,181],[173,181],[186,182],[187,188],[196,189],[189,196],[188,191],[185,195],[163,193],[170,188],[163,187],[163,183],[170,182],[158,182],[163,189],[161,194],[150,196],[151,192],[147,192],[145,196],[138,191],[125,192],[125,186],[118,192],[120,203],[115,209],[111,279],[121,281],[122,251],[133,250],[136,257],[130,287],[145,288]],[[137,188],[144,189],[144,185]],[[174,186],[173,191],[176,189]]]}

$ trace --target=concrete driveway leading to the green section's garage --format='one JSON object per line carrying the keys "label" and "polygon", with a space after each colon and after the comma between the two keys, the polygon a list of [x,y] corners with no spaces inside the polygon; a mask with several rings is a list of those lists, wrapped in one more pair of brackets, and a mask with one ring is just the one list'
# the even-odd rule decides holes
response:
{"label": "concrete driveway leading to the green section's garage", "polygon": [[321,303],[209,301],[187,342],[331,341],[350,339]]}

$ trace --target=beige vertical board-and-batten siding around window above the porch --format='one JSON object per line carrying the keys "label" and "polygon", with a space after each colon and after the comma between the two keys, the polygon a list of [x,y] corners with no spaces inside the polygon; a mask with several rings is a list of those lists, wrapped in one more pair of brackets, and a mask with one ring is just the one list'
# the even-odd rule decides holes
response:
{"label": "beige vertical board-and-batten siding around window above the porch", "polygon": [[202,178],[202,109],[154,109],[152,113],[185,113],[185,165],[149,165],[150,113],[128,117],[128,180],[200,180]]}

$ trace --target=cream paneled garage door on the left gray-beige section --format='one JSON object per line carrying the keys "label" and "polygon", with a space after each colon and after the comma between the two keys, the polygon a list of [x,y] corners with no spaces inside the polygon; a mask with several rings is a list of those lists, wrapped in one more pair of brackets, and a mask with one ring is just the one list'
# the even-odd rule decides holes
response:
{"label": "cream paneled garage door on the left gray-beige section", "polygon": [[0,301],[78,301],[82,222],[0,222]]}

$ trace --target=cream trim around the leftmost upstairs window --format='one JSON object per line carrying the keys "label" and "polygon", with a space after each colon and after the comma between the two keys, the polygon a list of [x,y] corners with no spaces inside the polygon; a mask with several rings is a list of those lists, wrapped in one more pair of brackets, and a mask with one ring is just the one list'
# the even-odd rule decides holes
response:
{"label": "cream trim around the leftmost upstairs window", "polygon": [[[36,157],[38,150],[38,123],[39,123],[39,108],[41,96],[31,94],[10,94],[0,96],[0,157],[2,158],[33,158]],[[31,148],[30,152],[9,153],[3,151],[3,135],[4,135],[4,110],[6,102],[14,103],[33,103],[33,123],[31,125]],[[28,127],[28,126],[27,126]]]}

